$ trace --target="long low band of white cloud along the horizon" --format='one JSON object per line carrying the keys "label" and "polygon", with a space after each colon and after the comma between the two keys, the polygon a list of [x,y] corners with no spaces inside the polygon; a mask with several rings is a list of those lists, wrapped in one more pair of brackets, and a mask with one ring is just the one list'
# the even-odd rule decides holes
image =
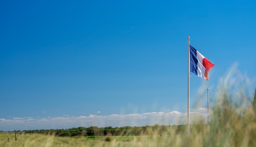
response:
{"label": "long low band of white cloud along the horizon", "polygon": [[[206,108],[191,110],[191,117],[196,114],[203,118],[207,112]],[[145,125],[180,125],[186,124],[186,113],[171,112],[148,112],[143,114],[112,114],[108,116],[69,116],[47,117],[47,118],[0,118],[0,130],[32,130],[32,129],[65,129],[72,127],[124,127],[124,126],[145,126]]]}

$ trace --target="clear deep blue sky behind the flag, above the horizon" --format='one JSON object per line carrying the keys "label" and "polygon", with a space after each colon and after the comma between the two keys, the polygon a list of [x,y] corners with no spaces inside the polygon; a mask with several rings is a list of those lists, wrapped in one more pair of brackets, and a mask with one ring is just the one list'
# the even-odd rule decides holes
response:
{"label": "clear deep blue sky behind the flag, above the horizon", "polygon": [[[99,125],[92,117],[101,118],[99,126],[147,125],[112,116],[184,114],[188,36],[215,64],[209,81],[191,74],[191,109],[207,87],[215,93],[234,63],[254,92],[255,6],[254,0],[1,1],[0,130]],[[85,123],[89,117],[97,123]],[[48,125],[40,125],[44,120]]]}

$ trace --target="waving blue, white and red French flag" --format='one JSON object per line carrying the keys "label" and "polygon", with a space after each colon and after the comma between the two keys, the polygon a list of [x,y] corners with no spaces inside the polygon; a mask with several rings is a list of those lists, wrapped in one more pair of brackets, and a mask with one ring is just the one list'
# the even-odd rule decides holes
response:
{"label": "waving blue, white and red French flag", "polygon": [[190,72],[195,73],[204,80],[209,80],[208,72],[214,66],[207,58],[189,45],[190,49]]}

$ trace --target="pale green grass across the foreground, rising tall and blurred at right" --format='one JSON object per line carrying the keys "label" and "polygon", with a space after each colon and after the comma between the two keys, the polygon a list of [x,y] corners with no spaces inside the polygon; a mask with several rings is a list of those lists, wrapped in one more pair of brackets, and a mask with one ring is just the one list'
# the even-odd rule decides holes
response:
{"label": "pale green grass across the foreground, rising tall and blurred at right", "polygon": [[17,134],[16,141],[15,134],[1,133],[0,147],[256,147],[256,107],[252,107],[254,94],[249,89],[248,80],[220,79],[210,124],[193,115],[191,124],[196,125],[191,125],[190,135],[172,126],[164,130],[148,127],[147,134],[138,136]]}

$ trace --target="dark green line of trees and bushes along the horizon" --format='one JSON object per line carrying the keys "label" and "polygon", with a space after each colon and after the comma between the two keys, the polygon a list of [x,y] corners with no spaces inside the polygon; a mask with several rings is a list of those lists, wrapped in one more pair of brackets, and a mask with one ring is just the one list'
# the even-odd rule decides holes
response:
{"label": "dark green line of trees and bushes along the horizon", "polygon": [[139,135],[153,135],[162,134],[173,130],[176,134],[179,134],[186,130],[186,125],[154,125],[143,127],[73,127],[69,129],[36,129],[36,130],[17,130],[17,132],[23,132],[27,134],[45,134],[55,136],[139,136]]}

